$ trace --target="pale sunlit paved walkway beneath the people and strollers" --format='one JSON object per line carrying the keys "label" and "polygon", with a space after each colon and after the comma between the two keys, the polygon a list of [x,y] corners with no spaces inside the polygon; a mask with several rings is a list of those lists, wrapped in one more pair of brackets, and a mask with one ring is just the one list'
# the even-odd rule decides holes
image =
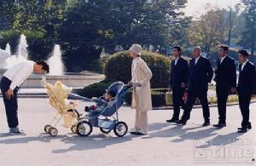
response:
{"label": "pale sunlit paved walkway beneath the people and strollers", "polygon": [[[88,104],[88,103],[87,103]],[[79,110],[83,110],[80,103]],[[55,115],[46,99],[19,100],[20,127],[25,136],[7,134],[7,123],[0,99],[0,165],[255,165],[256,103],[251,106],[253,129],[236,133],[241,123],[238,106],[229,106],[227,127],[202,128],[201,108],[194,109],[186,126],[166,123],[171,110],[148,112],[148,135],[103,135],[94,129],[88,137],[71,134],[58,126],[59,135],[44,134],[44,125]],[[134,110],[119,109],[119,117],[132,129]],[[211,108],[211,123],[218,122],[217,108]],[[223,163],[223,164],[220,164]],[[231,163],[231,164],[228,164]]]}

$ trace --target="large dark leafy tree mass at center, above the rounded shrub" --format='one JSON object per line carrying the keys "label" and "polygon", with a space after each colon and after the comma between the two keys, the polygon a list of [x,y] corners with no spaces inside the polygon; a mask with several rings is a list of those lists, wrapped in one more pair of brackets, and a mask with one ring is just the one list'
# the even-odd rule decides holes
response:
{"label": "large dark leafy tree mass at center, above the rounded shrub", "polygon": [[113,53],[115,45],[128,49],[132,43],[165,44],[168,27],[165,14],[181,20],[178,15],[183,13],[176,11],[184,3],[163,0],[73,3],[59,29],[67,68],[90,69],[89,62],[99,58],[102,48]]}

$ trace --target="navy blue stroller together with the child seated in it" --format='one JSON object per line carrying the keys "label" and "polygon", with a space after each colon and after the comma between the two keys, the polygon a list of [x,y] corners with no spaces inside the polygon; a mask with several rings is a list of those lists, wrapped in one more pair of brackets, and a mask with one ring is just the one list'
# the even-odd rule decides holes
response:
{"label": "navy blue stroller together with the child seated in it", "polygon": [[85,107],[88,112],[84,117],[79,117],[77,124],[77,134],[80,136],[88,136],[92,132],[93,127],[99,128],[102,133],[113,133],[119,137],[127,133],[128,126],[125,122],[119,121],[118,109],[123,105],[124,96],[130,86],[125,86],[122,82],[112,83],[106,93],[97,99],[88,99],[78,94],[69,94],[69,99],[93,101],[96,106]]}

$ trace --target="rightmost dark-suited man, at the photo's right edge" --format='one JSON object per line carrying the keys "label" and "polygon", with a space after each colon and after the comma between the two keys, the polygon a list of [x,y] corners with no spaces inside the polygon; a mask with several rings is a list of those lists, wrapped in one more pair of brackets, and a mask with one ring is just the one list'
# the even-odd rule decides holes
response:
{"label": "rightmost dark-suited man, at the photo's right edge", "polygon": [[241,110],[242,122],[241,128],[238,128],[238,133],[246,133],[247,129],[252,129],[252,125],[249,122],[250,115],[250,100],[253,94],[253,88],[255,87],[255,66],[250,62],[247,57],[246,50],[238,51],[239,54],[239,79],[238,79],[238,98],[239,107]]}

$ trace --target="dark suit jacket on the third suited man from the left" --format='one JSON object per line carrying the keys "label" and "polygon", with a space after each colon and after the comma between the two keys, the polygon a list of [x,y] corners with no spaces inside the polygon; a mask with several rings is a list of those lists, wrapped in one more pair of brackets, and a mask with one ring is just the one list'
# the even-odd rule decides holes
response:
{"label": "dark suit jacket on the third suited man from the left", "polygon": [[230,56],[226,56],[221,64],[218,60],[214,81],[218,89],[230,90],[231,87],[236,87],[235,60]]}

